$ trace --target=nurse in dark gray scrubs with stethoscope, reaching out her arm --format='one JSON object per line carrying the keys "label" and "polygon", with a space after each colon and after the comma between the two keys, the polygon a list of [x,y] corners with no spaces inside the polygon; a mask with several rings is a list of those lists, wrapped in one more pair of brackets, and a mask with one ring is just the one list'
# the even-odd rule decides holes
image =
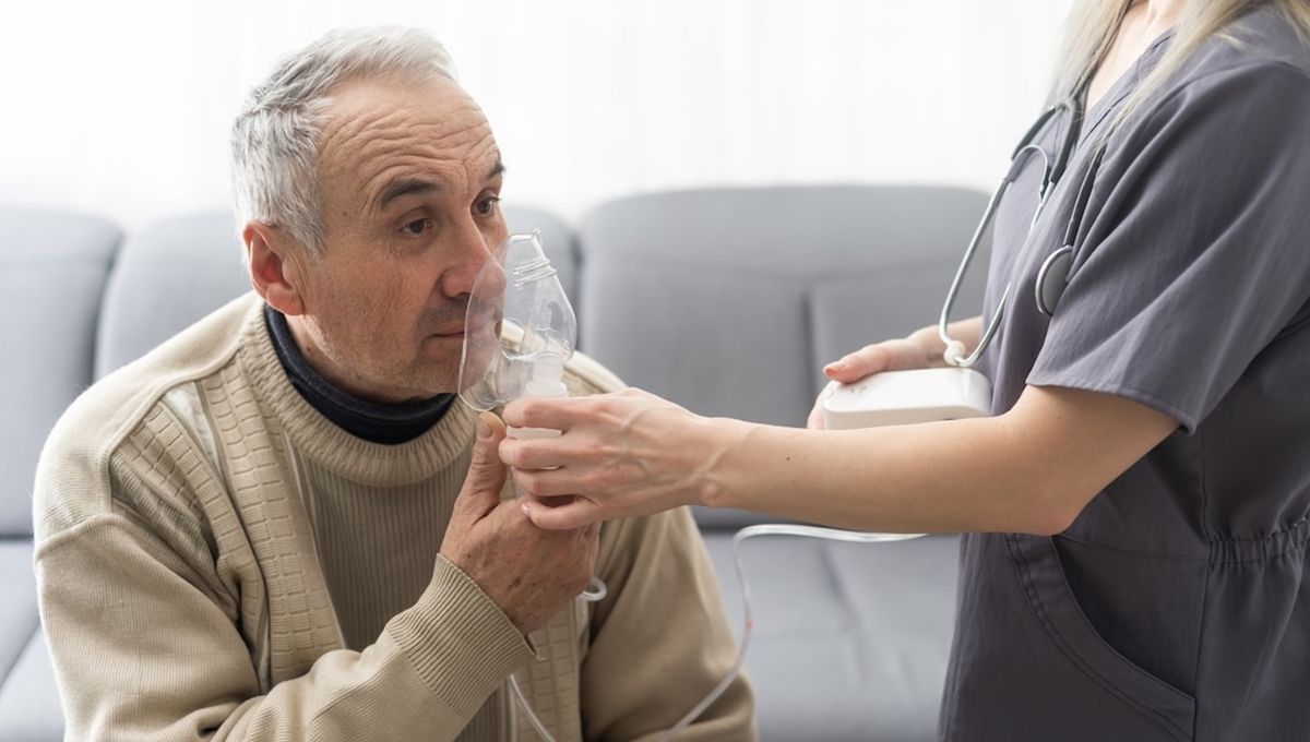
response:
{"label": "nurse in dark gray scrubs with stethoscope, reaching out her arm", "polygon": [[[969,534],[945,739],[1310,738],[1307,39],[1310,0],[1074,9],[1052,98],[1081,105],[1034,139],[1055,160],[1076,132],[1066,174],[1031,234],[1043,157],[996,215],[993,417],[802,431],[641,391],[521,400],[511,425],[563,431],[502,444],[524,506],[548,529],[698,504]],[[1083,181],[1048,315],[1036,276]],[[967,352],[980,326],[952,327]],[[943,351],[925,328],[825,370]]]}

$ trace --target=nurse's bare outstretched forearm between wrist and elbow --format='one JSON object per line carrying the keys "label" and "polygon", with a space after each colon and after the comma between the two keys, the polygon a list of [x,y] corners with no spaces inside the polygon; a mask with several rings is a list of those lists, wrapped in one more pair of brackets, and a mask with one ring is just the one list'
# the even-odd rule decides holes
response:
{"label": "nurse's bare outstretched forearm between wrist and elbow", "polygon": [[1062,508],[1036,506],[1022,486],[997,420],[804,433],[749,425],[736,434],[709,505],[869,531],[1039,533],[1060,525]]}

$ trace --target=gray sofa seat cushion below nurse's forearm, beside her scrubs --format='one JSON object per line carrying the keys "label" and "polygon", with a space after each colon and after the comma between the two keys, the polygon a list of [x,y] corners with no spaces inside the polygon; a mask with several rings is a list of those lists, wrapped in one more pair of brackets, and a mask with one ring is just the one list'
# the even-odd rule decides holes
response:
{"label": "gray sofa seat cushion below nurse's forearm, beside her scrubs", "polygon": [[[732,537],[705,540],[740,636]],[[937,739],[958,551],[955,537],[744,542],[755,619],[747,671],[761,742]]]}

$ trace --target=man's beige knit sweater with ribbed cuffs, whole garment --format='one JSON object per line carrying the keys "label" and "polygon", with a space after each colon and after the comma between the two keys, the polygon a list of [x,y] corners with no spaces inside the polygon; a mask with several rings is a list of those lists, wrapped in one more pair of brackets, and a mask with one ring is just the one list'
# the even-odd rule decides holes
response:
{"label": "man's beige knit sweater with ribbed cuffs, whole garment", "polygon": [[[617,380],[579,359],[574,394]],[[656,739],[735,644],[686,512],[607,523],[525,637],[438,555],[472,455],[456,404],[400,445],[291,386],[245,296],[98,382],[37,475],[41,611],[69,739]],[[534,652],[536,649],[536,652]],[[753,739],[744,678],[680,739]]]}

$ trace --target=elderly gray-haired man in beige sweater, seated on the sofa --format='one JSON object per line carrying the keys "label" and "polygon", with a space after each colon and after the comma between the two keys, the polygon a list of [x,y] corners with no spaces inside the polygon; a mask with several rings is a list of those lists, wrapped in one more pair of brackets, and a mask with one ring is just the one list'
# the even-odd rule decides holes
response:
{"label": "elderly gray-haired man in beige sweater, seated on the sofa", "polygon": [[[105,378],[37,480],[71,739],[655,739],[735,654],[686,512],[550,533],[456,389],[504,168],[441,47],[333,33],[233,131],[254,293]],[[617,381],[578,357],[572,394]],[[576,599],[592,574],[596,603]],[[753,739],[738,677],[679,739]]]}

